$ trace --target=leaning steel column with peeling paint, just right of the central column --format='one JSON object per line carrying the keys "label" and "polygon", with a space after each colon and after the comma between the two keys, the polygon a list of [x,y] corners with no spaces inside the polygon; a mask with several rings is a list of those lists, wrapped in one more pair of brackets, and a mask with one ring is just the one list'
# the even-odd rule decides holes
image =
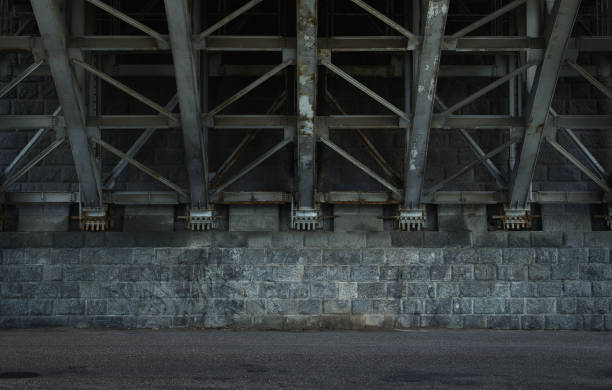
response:
{"label": "leaning steel column with peeling paint, just right of the central column", "polygon": [[435,102],[436,82],[448,14],[449,0],[428,0],[414,87],[412,131],[404,157],[405,209],[421,206],[423,176],[427,163],[429,127]]}

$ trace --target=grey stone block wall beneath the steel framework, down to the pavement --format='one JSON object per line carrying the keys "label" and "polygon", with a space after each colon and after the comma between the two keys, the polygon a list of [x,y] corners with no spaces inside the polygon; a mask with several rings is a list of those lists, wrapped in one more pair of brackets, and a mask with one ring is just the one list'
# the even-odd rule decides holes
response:
{"label": "grey stone block wall beneath the steel framework, down to the pavement", "polygon": [[612,330],[612,232],[0,233],[0,327]]}

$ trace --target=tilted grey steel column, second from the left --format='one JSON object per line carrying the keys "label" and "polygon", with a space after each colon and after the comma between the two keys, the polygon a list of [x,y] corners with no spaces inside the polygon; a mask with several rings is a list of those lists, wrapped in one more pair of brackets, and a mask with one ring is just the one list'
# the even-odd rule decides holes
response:
{"label": "tilted grey steel column, second from the left", "polygon": [[200,120],[198,70],[191,41],[191,14],[187,0],[165,0],[174,62],[181,127],[189,176],[191,207],[208,208],[208,159]]}

